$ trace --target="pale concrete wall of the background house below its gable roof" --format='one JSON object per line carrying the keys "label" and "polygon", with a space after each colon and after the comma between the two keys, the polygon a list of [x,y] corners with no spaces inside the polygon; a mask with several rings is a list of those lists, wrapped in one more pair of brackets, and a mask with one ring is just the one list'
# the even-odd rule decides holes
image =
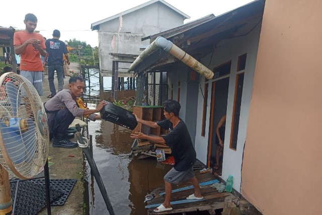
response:
{"label": "pale concrete wall of the background house below its gable roof", "polygon": [[[183,25],[184,17],[162,3],[155,3],[122,15],[122,29],[118,34],[119,19],[102,23],[99,28],[100,68],[112,71],[112,56],[109,53],[140,54],[149,40],[141,38]],[[114,50],[111,42],[115,35]]]}

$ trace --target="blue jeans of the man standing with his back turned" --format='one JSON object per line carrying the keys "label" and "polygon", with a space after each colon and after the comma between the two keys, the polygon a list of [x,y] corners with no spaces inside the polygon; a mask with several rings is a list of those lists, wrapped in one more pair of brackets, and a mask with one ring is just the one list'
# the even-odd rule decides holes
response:
{"label": "blue jeans of the man standing with his back turned", "polygon": [[58,92],[62,90],[62,86],[64,85],[64,65],[63,64],[54,64],[48,65],[48,82],[49,89],[52,95],[56,95],[56,88],[54,84],[54,73],[57,73],[58,80]]}

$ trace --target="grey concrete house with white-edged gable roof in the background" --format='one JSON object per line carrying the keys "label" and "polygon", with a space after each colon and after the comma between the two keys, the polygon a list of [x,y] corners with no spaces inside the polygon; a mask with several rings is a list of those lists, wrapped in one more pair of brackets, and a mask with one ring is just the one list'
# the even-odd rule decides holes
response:
{"label": "grey concrete house with white-edged gable roof in the background", "polygon": [[91,28],[99,35],[101,75],[111,76],[113,62],[118,62],[119,76],[129,76],[129,63],[149,45],[141,38],[183,25],[189,18],[163,0],[152,0],[93,23]]}

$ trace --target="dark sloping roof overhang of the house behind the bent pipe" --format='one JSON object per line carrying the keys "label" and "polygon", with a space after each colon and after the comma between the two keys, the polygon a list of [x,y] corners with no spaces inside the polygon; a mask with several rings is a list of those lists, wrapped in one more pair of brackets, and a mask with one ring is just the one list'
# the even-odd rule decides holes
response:
{"label": "dark sloping roof overhang of the house behind the bent pipe", "polygon": [[[196,26],[192,25],[191,28],[185,28],[184,25],[181,29],[175,28],[156,35],[165,34],[168,40],[197,59],[213,51],[215,44],[219,41],[240,36],[236,35],[236,32],[242,27],[244,27],[244,31],[251,31],[254,26],[260,23],[264,6],[265,0],[257,0],[220,16],[204,20]],[[251,24],[249,24],[250,22]],[[150,36],[151,42],[156,35]],[[161,49],[159,53],[151,54],[134,68],[135,73],[146,68],[157,68],[155,65],[158,64],[158,61],[167,55],[169,54]]]}

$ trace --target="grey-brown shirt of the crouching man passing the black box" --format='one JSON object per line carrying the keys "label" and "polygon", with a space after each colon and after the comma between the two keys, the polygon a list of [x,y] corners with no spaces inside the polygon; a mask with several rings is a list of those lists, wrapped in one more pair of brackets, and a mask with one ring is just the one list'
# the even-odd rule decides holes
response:
{"label": "grey-brown shirt of the crouching man passing the black box", "polygon": [[[84,109],[77,106],[76,101],[71,97],[69,89],[63,89],[57,92],[54,97],[45,103],[45,108],[48,111],[59,111],[62,108],[67,108],[74,117],[82,117],[84,115]],[[47,118],[49,119],[51,115],[47,113]],[[88,116],[88,119],[95,121],[95,116],[97,114],[91,114]]]}

